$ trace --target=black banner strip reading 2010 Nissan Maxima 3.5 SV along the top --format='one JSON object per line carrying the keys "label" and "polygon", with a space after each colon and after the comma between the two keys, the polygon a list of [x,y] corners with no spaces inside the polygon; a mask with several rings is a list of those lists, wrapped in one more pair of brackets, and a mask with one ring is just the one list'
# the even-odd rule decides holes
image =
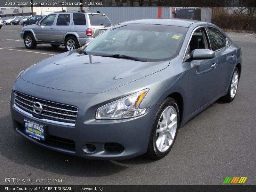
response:
{"label": "black banner strip reading 2010 Nissan Maxima 3.5 SV along the top", "polygon": [[168,7],[256,7],[256,0],[1,0],[0,7],[90,7],[90,6],[168,6]]}

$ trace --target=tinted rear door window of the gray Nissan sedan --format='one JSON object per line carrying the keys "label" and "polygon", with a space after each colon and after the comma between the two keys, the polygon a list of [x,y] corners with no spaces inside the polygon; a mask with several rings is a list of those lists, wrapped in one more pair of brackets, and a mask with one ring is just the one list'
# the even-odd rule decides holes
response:
{"label": "tinted rear door window of the gray Nissan sedan", "polygon": [[215,28],[208,27],[209,34],[212,39],[212,50],[216,51],[227,45],[226,39],[221,32]]}

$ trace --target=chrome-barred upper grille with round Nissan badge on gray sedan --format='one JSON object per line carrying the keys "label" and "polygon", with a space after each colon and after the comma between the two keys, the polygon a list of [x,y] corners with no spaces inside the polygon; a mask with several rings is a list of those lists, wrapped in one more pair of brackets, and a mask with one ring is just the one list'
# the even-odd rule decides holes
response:
{"label": "chrome-barred upper grille with round Nissan badge on gray sedan", "polygon": [[[43,108],[41,112],[38,109],[33,109],[33,106],[36,102],[39,102],[41,104]],[[78,109],[73,106],[34,98],[20,92],[15,92],[14,105],[24,111],[27,111],[28,113],[32,114],[37,118],[49,119],[52,121],[56,121],[57,123],[76,123]],[[39,107],[38,103],[36,104],[36,107]],[[36,114],[35,112],[39,114]]]}

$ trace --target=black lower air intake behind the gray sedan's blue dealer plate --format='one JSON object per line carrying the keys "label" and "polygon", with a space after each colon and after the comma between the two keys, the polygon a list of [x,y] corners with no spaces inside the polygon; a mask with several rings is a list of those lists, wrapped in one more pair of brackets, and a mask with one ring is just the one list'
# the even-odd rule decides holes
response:
{"label": "black lower air intake behind the gray sedan's blue dealer plate", "polygon": [[[19,123],[18,121],[15,121],[15,123],[17,124],[18,129],[25,134],[25,125]],[[68,150],[73,150],[73,151],[76,150],[76,144],[73,140],[56,137],[56,136],[49,135],[49,134],[45,138],[45,141],[40,140],[39,142],[41,142],[43,144],[56,146],[56,147],[61,147],[61,148],[68,149]]]}

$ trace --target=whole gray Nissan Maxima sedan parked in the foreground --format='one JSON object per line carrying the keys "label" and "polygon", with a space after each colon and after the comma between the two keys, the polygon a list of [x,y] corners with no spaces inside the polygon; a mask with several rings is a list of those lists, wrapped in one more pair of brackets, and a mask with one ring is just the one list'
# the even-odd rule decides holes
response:
{"label": "whole gray Nissan Maxima sedan parked in the foreground", "polygon": [[85,158],[160,159],[191,117],[221,97],[234,100],[241,67],[241,48],[211,23],[124,22],[22,71],[10,98],[13,127]]}

